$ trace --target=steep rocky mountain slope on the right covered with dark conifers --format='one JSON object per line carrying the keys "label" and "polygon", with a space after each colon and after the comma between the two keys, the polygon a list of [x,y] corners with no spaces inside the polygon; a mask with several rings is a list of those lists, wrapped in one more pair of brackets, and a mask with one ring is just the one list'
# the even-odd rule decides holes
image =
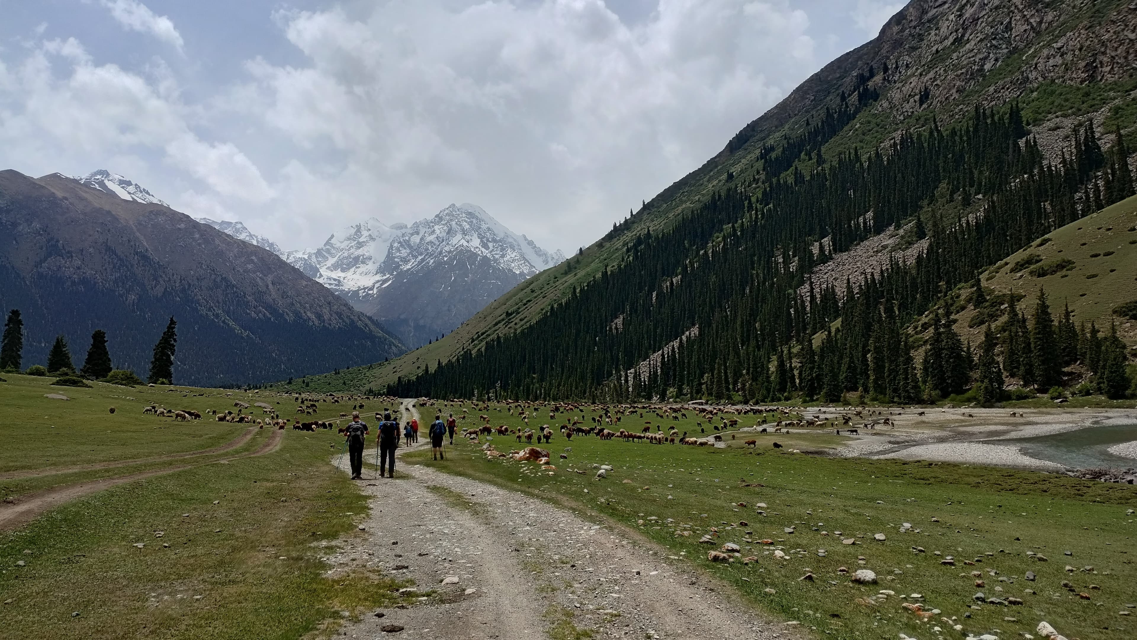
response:
{"label": "steep rocky mountain slope on the right covered with dark conifers", "polygon": [[[658,391],[628,372],[666,361],[682,369],[656,374],[672,376],[669,389],[677,375],[699,380],[680,394],[706,393],[713,377],[740,392],[761,377],[757,363],[829,321],[852,322],[856,305],[881,308],[872,297],[885,292],[902,349],[907,318],[1131,189],[1104,182],[1110,166],[1128,169],[1112,133],[1137,116],[1134,32],[1137,10],[1121,1],[916,0],[582,256],[377,367],[372,384],[429,366],[400,392]],[[1095,200],[1094,185],[1114,191]],[[815,267],[882,232],[895,239],[883,250],[922,257],[865,285],[870,268],[856,260],[830,269],[812,305]],[[435,374],[439,360],[455,361]],[[845,387],[869,381],[862,365],[841,367]]]}

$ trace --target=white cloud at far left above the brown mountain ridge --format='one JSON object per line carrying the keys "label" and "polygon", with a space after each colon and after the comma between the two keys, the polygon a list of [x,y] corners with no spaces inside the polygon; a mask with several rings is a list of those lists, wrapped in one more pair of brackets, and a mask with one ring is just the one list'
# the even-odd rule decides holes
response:
{"label": "white cloud at far left above the brown mountain ridge", "polygon": [[[191,109],[158,72],[155,86],[117,65],[97,65],[74,39],[44,42],[17,65],[0,64],[2,158],[25,171],[64,171],[63,160],[85,173],[116,157],[155,155],[221,196],[269,200],[272,189],[240,149],[205,141],[191,128]],[[81,159],[86,166],[75,167]]]}

